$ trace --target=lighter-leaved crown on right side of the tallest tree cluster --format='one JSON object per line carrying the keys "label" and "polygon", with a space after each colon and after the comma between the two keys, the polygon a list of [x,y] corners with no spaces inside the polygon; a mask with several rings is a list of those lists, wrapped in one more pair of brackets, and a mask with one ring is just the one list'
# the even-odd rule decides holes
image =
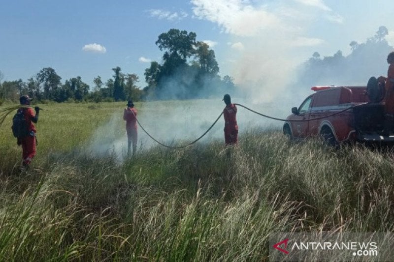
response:
{"label": "lighter-leaved crown on right side of the tallest tree cluster", "polygon": [[197,42],[196,46],[196,57],[198,58],[201,72],[211,76],[217,75],[219,73],[219,66],[215,58],[215,52],[209,50],[209,46],[204,42]]}

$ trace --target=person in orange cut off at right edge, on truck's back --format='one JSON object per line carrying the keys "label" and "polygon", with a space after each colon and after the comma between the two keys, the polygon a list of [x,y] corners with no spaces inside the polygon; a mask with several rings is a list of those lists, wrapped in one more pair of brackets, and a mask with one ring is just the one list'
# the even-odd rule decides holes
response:
{"label": "person in orange cut off at right edge, on truck's back", "polygon": [[394,126],[394,52],[387,56],[387,62],[390,64],[387,72],[385,84],[386,94],[385,102],[385,126],[384,131],[389,135]]}

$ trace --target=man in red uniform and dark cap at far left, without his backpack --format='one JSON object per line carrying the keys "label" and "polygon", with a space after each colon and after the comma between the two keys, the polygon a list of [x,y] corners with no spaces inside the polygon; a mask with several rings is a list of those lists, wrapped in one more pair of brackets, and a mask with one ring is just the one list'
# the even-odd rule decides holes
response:
{"label": "man in red uniform and dark cap at far left, without his backpack", "polygon": [[[19,98],[19,102],[21,105],[30,105],[30,102],[33,98],[30,98],[28,95],[23,95]],[[28,135],[22,138],[18,138],[18,146],[22,146],[22,170],[27,170],[29,168],[30,163],[32,162],[33,157],[36,154],[35,147],[37,145],[35,126],[33,123],[37,123],[38,115],[40,112],[39,107],[35,107],[35,115],[33,113],[32,108],[20,108],[19,112],[25,117],[25,123],[28,131]]]}

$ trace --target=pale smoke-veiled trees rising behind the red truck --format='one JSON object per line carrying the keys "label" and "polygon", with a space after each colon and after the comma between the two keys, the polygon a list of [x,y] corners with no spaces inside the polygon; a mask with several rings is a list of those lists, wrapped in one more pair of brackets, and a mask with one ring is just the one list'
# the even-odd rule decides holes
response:
{"label": "pale smoke-veiled trees rising behind the red truck", "polygon": [[314,52],[311,58],[299,66],[296,86],[366,86],[371,76],[387,75],[386,58],[394,51],[386,40],[387,35],[388,29],[381,26],[365,42],[351,41],[351,53],[347,56],[341,50],[323,58],[319,52]]}

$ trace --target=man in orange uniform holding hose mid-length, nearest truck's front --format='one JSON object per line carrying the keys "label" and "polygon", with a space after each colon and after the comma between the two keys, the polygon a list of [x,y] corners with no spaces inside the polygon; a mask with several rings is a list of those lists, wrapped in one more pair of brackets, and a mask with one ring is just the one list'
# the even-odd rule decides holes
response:
{"label": "man in orange uniform holding hose mid-length, nearest truck's front", "polygon": [[237,125],[237,107],[231,104],[231,97],[225,94],[222,101],[225,101],[226,107],[223,110],[225,118],[225,141],[226,145],[233,145],[238,143],[238,125]]}

